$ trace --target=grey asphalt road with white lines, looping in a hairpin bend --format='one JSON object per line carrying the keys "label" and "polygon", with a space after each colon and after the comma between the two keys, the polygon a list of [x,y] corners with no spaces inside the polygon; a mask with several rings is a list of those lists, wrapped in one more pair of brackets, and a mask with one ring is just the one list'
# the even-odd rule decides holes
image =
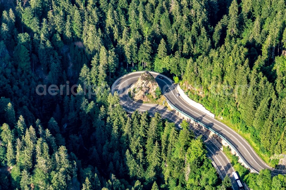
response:
{"label": "grey asphalt road with white lines, looping in a hairpin bend", "polygon": [[[163,118],[168,118],[178,125],[183,120],[183,118],[175,114],[175,112],[168,111],[163,106],[158,104],[142,104],[134,102],[130,99],[128,96],[128,89],[137,82],[142,73],[143,71],[133,72],[124,75],[123,77],[116,80],[112,85],[112,94],[114,94],[115,91],[118,92],[120,97],[120,104],[128,112],[133,112],[135,110],[140,112],[148,111],[150,114],[158,112]],[[264,161],[262,161],[262,159],[257,155],[249,143],[234,130],[219,122],[218,120],[204,114],[203,112],[200,112],[200,110],[190,106],[180,96],[177,97],[176,94],[178,92],[171,79],[162,74],[155,72],[150,73],[155,77],[163,95],[172,105],[227,139],[227,141],[229,141],[229,143],[231,143],[231,145],[237,149],[237,153],[243,157],[243,159],[247,162],[246,164],[249,165],[253,171],[258,173],[261,169],[267,168],[272,171],[273,175],[286,173],[285,170],[277,170],[269,167]],[[215,143],[215,139],[208,138],[208,134],[210,133],[208,130],[203,131],[196,128],[192,128],[192,130],[196,135],[202,135],[208,150],[208,156],[214,162],[214,165],[217,167],[220,176],[222,178],[225,177],[225,175],[229,175],[229,177],[231,177],[231,172],[233,172],[234,169],[225,154],[221,151],[221,145]]]}

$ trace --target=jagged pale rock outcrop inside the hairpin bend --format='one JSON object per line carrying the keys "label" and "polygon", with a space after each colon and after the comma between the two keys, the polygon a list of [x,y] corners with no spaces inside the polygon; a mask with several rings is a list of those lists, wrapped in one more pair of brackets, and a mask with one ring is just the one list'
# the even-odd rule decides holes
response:
{"label": "jagged pale rock outcrop inside the hairpin bend", "polygon": [[148,102],[149,98],[146,95],[151,94],[154,98],[156,98],[155,91],[157,87],[158,84],[155,78],[150,74],[150,72],[145,71],[142,73],[136,84],[131,87],[131,97],[134,100]]}

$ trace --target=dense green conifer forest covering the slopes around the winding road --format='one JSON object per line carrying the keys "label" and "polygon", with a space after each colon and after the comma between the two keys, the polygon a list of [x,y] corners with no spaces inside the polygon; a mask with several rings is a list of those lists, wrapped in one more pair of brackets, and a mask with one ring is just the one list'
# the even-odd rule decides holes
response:
{"label": "dense green conifer forest covering the slopes around the winding road", "polygon": [[[154,70],[249,137],[286,153],[283,0],[0,1],[0,189],[226,189],[183,122],[126,113],[109,86]],[[37,85],[66,85],[40,96]],[[68,94],[92,86],[94,96]],[[268,170],[253,189],[282,189]],[[267,188],[265,188],[267,185]]]}

